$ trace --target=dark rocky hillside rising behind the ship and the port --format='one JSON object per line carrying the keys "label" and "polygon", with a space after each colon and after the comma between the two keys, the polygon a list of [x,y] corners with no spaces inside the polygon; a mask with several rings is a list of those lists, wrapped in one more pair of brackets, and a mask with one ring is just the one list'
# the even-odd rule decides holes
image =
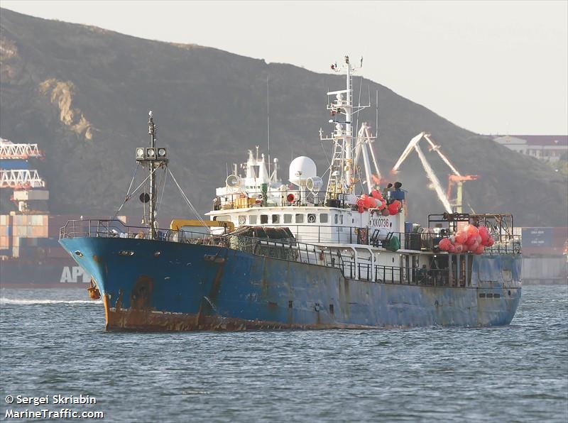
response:
{"label": "dark rocky hillside rising behind the ship and the port", "polygon": [[[6,9],[0,27],[0,135],[39,143],[45,150],[38,167],[48,180],[53,213],[114,212],[131,179],[134,148],[148,141],[148,109],[154,111],[160,145],[169,148],[180,184],[198,209],[208,210],[214,188],[224,182],[226,163],[240,163],[247,149],[266,145],[268,76],[271,154],[280,158],[283,175],[296,155],[314,158],[321,173],[327,167],[318,130],[331,130],[324,92],[343,86],[337,75]],[[356,89],[360,83],[354,79]],[[525,226],[566,224],[566,180],[550,167],[364,79],[364,93],[367,86],[371,93],[378,89],[380,97],[376,148],[383,172],[410,138],[428,131],[462,173],[481,175],[465,186],[466,202],[476,211],[513,212],[516,223]],[[374,122],[374,110],[360,122],[364,119]],[[432,153],[428,157],[445,181],[447,167]],[[410,219],[424,222],[426,211],[442,211],[414,153],[397,179],[409,191]],[[163,213],[187,214],[172,188]],[[8,202],[1,207],[5,210]]]}

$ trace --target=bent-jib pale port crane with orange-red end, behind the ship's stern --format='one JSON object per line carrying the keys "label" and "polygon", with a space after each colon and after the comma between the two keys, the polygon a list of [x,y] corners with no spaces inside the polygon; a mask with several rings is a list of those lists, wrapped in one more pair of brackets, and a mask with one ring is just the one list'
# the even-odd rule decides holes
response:
{"label": "bent-jib pale port crane with orange-red end, behind the ship's stern", "polygon": [[[476,180],[479,178],[479,176],[461,175],[461,173],[456,169],[456,167],[452,165],[452,163],[448,160],[446,155],[444,155],[444,153],[442,153],[442,151],[439,149],[440,146],[436,145],[434,141],[432,141],[432,138],[430,137],[431,137],[430,133],[421,132],[413,139],[411,139],[410,143],[408,143],[405,150],[400,155],[400,158],[398,158],[398,161],[393,166],[391,172],[393,174],[398,173],[400,165],[403,164],[404,160],[408,157],[408,155],[412,152],[412,150],[415,150],[418,155],[418,158],[420,158],[420,163],[422,163],[422,167],[424,167],[428,179],[430,179],[432,185],[434,185],[434,189],[436,191],[438,199],[444,205],[444,209],[446,209],[446,212],[452,213],[453,212],[452,206],[453,206],[455,207],[456,212],[461,213],[463,211],[464,181]],[[426,159],[424,153],[422,152],[420,145],[418,145],[418,143],[420,143],[422,138],[425,138],[425,140],[430,145],[430,151],[435,151],[436,153],[438,153],[439,157],[444,161],[444,163],[448,165],[450,170],[452,170],[452,174],[448,176],[448,187],[447,187],[447,192],[445,193],[444,189],[442,189],[442,185],[438,180],[438,177],[434,173],[434,170],[432,170],[430,163],[428,163],[428,160]],[[452,200],[452,187],[454,185],[457,185],[457,192],[456,192],[456,198]]]}

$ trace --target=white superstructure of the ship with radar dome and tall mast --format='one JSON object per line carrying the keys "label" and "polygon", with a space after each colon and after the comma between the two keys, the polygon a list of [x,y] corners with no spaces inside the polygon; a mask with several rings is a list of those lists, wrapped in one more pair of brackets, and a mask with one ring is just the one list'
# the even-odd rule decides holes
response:
{"label": "white superstructure of the ship with radar dome and tall mast", "polygon": [[[256,154],[249,150],[249,158],[241,165],[241,172],[234,165],[225,186],[217,188],[214,210],[207,215],[213,220],[231,221],[236,228],[286,226],[298,241],[310,243],[361,246],[363,238],[385,239],[389,234],[404,234],[404,212],[385,215],[382,207],[373,209],[357,205],[359,198],[354,194],[354,187],[358,176],[354,153],[361,151],[361,143],[370,141],[364,140],[364,136],[371,138],[368,132],[361,132],[358,142],[353,142],[352,116],[367,107],[352,104],[351,75],[357,69],[360,67],[354,68],[348,56],[344,57],[341,66],[332,65],[332,70],[346,76],[346,88],[327,93],[332,99],[327,109],[334,118],[329,121],[334,128],[330,136],[324,137],[320,129],[320,138],[331,143],[333,152],[332,162],[324,172],[328,174],[327,185],[318,174],[315,162],[305,156],[292,160],[288,181],[278,180],[277,159],[274,159],[272,175],[268,175],[265,155],[259,155],[257,146]],[[368,161],[367,156],[364,157]],[[374,155],[373,162],[376,163]],[[378,172],[378,165],[376,167]],[[368,175],[366,183],[371,185]],[[404,203],[404,195],[399,194],[400,202]],[[381,247],[376,249],[383,250]]]}

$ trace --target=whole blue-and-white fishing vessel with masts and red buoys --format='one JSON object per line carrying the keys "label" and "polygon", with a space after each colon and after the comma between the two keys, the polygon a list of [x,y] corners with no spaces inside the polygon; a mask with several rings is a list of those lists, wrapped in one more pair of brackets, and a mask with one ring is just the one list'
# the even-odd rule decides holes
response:
{"label": "whole blue-and-white fishing vessel with masts and red buoys", "polygon": [[[521,296],[521,255],[510,214],[430,214],[405,222],[412,189],[400,182],[361,187],[354,165],[351,75],[328,92],[332,156],[324,175],[295,158],[288,181],[278,162],[249,152],[219,187],[208,220],[173,219],[158,228],[158,177],[168,152],[136,148],[147,176],[126,194],[143,204],[141,226],[119,220],[69,221],[60,243],[92,275],[109,330],[363,329],[500,326]],[[268,160],[266,160],[268,159]],[[272,167],[272,169],[271,169]],[[136,175],[136,172],[135,172]],[[327,179],[327,183],[324,180]],[[359,183],[359,185],[357,185]],[[133,187],[131,183],[131,187]],[[197,213],[196,213],[197,214]]]}

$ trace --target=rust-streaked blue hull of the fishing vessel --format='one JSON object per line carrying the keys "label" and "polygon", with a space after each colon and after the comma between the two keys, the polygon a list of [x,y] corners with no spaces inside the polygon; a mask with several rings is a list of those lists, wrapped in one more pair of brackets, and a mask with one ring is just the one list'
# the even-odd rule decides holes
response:
{"label": "rust-streaked blue hull of the fishing vessel", "polygon": [[222,246],[133,238],[60,243],[96,280],[109,330],[501,326],[513,319],[521,295],[520,256],[475,256],[472,286],[434,287],[351,280],[337,268]]}

